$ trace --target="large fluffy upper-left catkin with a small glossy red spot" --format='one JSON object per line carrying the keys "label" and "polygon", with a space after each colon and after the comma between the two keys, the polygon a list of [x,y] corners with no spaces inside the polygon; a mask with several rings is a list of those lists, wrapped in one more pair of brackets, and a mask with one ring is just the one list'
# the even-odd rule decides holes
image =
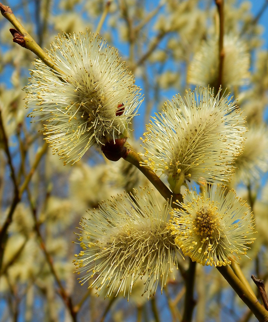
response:
{"label": "large fluffy upper-left catkin with a small glossy red spot", "polygon": [[49,55],[62,73],[36,60],[26,106],[34,108],[31,117],[46,122],[45,139],[64,164],[79,161],[92,145],[127,137],[140,89],[118,51],[86,32],[58,35]]}

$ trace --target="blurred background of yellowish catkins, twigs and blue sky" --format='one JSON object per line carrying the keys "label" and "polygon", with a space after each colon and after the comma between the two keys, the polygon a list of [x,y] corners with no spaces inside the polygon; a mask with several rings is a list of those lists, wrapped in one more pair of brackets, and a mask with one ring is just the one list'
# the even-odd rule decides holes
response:
{"label": "blurred background of yellowish catkins, twigs and blue sky", "polygon": [[[22,0],[4,4],[11,6],[42,48],[49,48],[54,36],[62,31],[73,33],[88,28],[95,32],[107,6],[101,0]],[[236,174],[230,184],[253,207],[259,232],[248,253],[252,260],[243,259],[242,270],[247,279],[254,273],[264,281],[268,280],[268,186],[263,172],[268,168],[268,153],[266,144],[258,145],[258,142],[267,142],[262,140],[267,138],[268,52],[263,49],[263,28],[259,25],[266,6],[267,1],[255,15],[248,1],[227,0],[224,7],[225,33],[242,39],[250,53],[247,85],[228,90],[239,96],[238,105],[245,110],[247,126],[252,132],[264,128],[263,136],[253,139],[245,151],[250,156],[254,146],[259,148],[253,162],[263,156],[264,166],[259,169],[262,171],[251,174],[251,180],[244,184]],[[172,95],[184,96],[186,88],[194,89],[187,82],[189,65],[202,42],[218,33],[219,18],[215,3],[209,0],[115,0],[108,10],[100,35],[119,49],[145,97],[140,116],[132,122],[135,131],[130,142],[139,150],[139,136],[149,116],[160,110]],[[124,160],[110,162],[93,149],[79,163],[63,167],[62,160],[43,145],[43,135],[38,132],[41,124],[30,123],[26,118],[29,111],[24,107],[22,88],[27,84],[35,56],[12,42],[11,24],[2,16],[0,28],[0,109],[19,186],[30,170],[35,170],[8,230],[0,271],[0,320],[180,321],[185,286],[179,272],[176,281],[169,280],[162,295],[157,292],[149,301],[146,296],[140,297],[143,285],[139,283],[129,303],[121,296],[103,300],[94,295],[94,289],[87,290],[86,285],[81,287],[77,283],[72,264],[73,254],[77,252],[72,243],[73,231],[80,218],[86,216],[86,209],[96,207],[111,195],[129,192],[149,182]],[[245,167],[244,171],[248,169]],[[1,225],[13,197],[4,139],[0,136]],[[187,268],[188,259],[178,260],[182,268]],[[214,268],[197,266],[195,299],[195,321],[255,319]]]}

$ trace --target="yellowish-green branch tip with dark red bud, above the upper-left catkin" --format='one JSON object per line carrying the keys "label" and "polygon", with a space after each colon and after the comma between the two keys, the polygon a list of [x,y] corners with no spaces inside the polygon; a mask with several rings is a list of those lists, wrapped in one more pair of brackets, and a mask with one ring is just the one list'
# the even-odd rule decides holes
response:
{"label": "yellowish-green branch tip with dark red bud, above the upper-left catkin", "polygon": [[13,14],[12,10],[6,6],[3,5],[0,2],[0,10],[1,14],[16,28],[15,32],[14,29],[12,29],[12,34],[14,32],[14,42],[21,42],[21,36],[24,40],[24,46],[26,49],[29,49],[31,52],[33,52],[36,56],[38,56],[49,68],[53,69],[54,71],[57,71],[60,74],[64,74],[62,70],[60,70],[53,60],[49,57],[47,53],[43,51],[43,49],[34,41],[34,39],[30,36],[30,34],[24,29],[22,24],[18,21],[18,19]]}

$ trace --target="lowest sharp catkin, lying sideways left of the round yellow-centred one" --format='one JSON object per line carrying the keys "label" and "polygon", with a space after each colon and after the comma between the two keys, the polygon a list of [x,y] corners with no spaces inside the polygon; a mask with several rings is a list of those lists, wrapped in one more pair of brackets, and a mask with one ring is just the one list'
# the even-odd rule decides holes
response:
{"label": "lowest sharp catkin, lying sideways left of the round yellow-centred one", "polygon": [[81,251],[73,261],[78,274],[85,272],[81,285],[90,280],[89,288],[107,288],[106,296],[129,297],[141,278],[148,298],[159,279],[161,290],[165,286],[168,272],[177,269],[177,246],[168,229],[169,206],[161,209],[151,190],[120,194],[81,220]]}

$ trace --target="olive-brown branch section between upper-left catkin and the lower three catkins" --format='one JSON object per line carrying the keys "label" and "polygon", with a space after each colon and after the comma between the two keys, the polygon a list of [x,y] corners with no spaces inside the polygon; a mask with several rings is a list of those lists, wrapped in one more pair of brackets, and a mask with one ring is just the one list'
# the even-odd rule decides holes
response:
{"label": "olive-brown branch section between upper-left catkin and the lower three catkins", "polygon": [[174,195],[161,181],[158,175],[156,175],[148,166],[141,165],[143,163],[143,159],[139,154],[128,143],[126,143],[125,146],[127,148],[126,156],[124,157],[126,161],[136,166],[167,201],[170,201],[173,197],[173,200],[178,199],[179,202],[182,202],[181,194]]}

